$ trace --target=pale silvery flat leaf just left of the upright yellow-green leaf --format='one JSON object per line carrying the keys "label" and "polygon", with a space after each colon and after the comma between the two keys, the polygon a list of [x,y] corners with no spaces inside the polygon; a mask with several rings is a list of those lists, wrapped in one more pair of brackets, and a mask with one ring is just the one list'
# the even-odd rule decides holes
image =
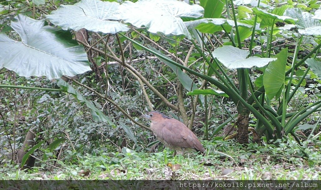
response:
{"label": "pale silvery flat leaf just left of the upright yellow-green leaf", "polygon": [[256,56],[247,58],[250,54],[249,51],[231,45],[218,47],[212,54],[228,69],[251,68],[254,66],[263,67],[270,61],[276,60],[276,58],[261,58]]}

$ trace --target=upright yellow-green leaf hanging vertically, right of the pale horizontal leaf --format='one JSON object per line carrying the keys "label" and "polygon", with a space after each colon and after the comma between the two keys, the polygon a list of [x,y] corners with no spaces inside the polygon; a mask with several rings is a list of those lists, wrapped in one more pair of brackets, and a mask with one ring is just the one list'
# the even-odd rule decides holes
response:
{"label": "upright yellow-green leaf hanging vertically, right of the pale horizontal leaf", "polygon": [[276,54],[277,60],[270,62],[263,75],[263,85],[267,97],[271,100],[280,90],[285,80],[285,67],[288,58],[288,48]]}

